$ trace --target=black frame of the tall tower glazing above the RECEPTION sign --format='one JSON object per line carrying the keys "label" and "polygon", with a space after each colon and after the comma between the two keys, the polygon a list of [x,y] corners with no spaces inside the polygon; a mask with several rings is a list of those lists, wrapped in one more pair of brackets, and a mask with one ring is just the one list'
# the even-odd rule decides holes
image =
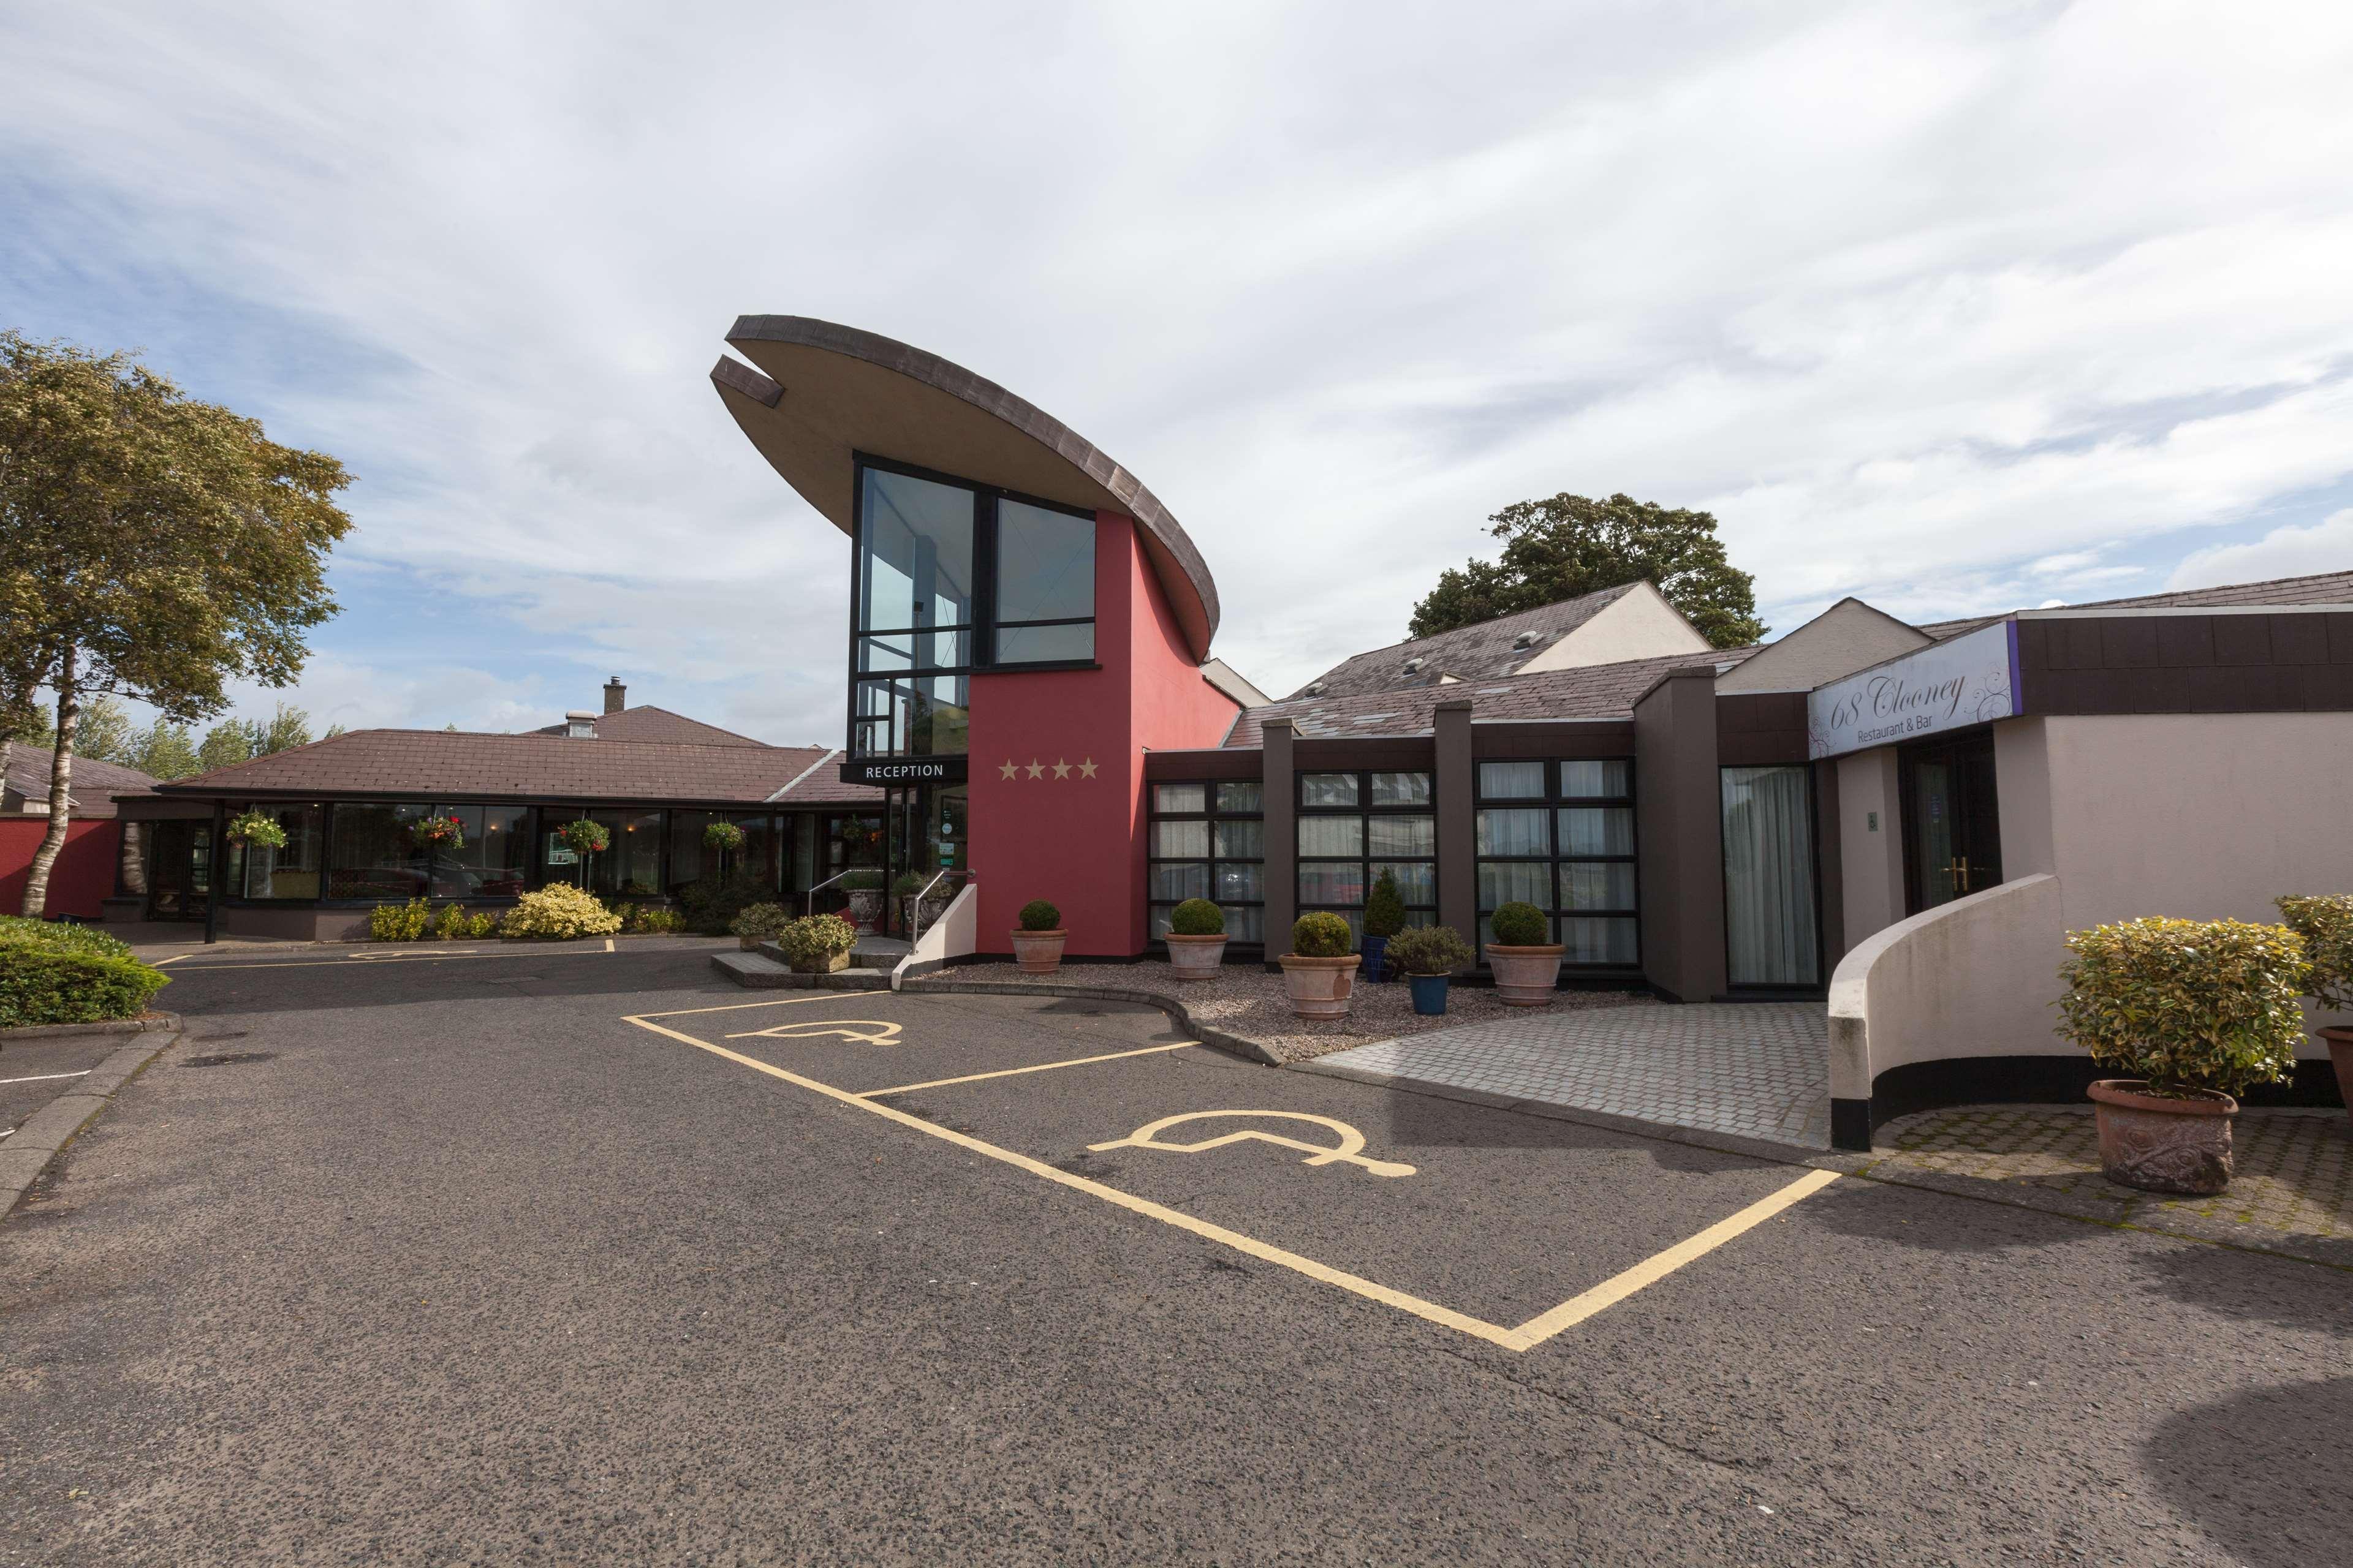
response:
{"label": "black frame of the tall tower glazing above the RECEPTION sign", "polygon": [[[892,473],[908,480],[927,480],[932,484],[948,484],[972,494],[972,618],[967,623],[948,628],[861,628],[859,618],[866,604],[866,473]],[[1033,670],[1101,670],[1099,658],[1052,658],[1052,661],[1016,661],[998,663],[998,503],[1014,501],[1019,505],[1033,505],[1047,512],[1061,512],[1066,517],[1085,517],[1089,524],[1096,520],[1087,508],[1068,505],[1064,501],[1047,501],[1045,496],[1031,496],[1026,491],[1005,489],[1002,484],[981,484],[976,480],[962,480],[951,473],[939,473],[936,468],[920,468],[915,463],[896,463],[892,458],[880,458],[866,451],[849,454],[849,703],[847,703],[847,736],[845,755],[854,759],[864,757],[969,757],[969,741],[965,752],[901,752],[901,750],[868,750],[861,745],[861,731],[871,731],[882,724],[887,731],[887,743],[896,745],[896,722],[892,717],[861,717],[859,693],[864,686],[896,689],[901,684],[913,693],[915,682],[925,679],[960,679],[965,691],[965,712],[969,722],[972,712],[972,677],[974,675],[998,675],[998,672],[1033,672]],[[1089,585],[1092,592],[1092,585]],[[1014,621],[1007,623],[1012,630],[1031,630],[1047,625],[1096,625],[1101,621],[1101,604],[1092,616],[1061,616],[1049,621]],[[962,654],[967,663],[958,665],[911,665],[906,670],[864,670],[864,644],[878,637],[908,637],[911,654],[920,651],[918,637],[929,635],[962,635]],[[1101,654],[1101,644],[1096,644]],[[892,705],[896,710],[896,705]],[[969,733],[969,731],[967,731]]]}

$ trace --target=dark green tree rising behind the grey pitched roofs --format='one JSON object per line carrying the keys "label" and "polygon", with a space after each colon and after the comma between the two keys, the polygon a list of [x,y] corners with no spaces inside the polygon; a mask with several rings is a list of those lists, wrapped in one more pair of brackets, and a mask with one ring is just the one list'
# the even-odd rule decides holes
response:
{"label": "dark green tree rising behind the grey pitched roofs", "polygon": [[1515,501],[1487,522],[1504,541],[1501,559],[1440,571],[1431,597],[1414,607],[1407,625],[1414,637],[1645,581],[1720,649],[1748,646],[1767,632],[1755,578],[1725,559],[1708,512],[1560,494]]}

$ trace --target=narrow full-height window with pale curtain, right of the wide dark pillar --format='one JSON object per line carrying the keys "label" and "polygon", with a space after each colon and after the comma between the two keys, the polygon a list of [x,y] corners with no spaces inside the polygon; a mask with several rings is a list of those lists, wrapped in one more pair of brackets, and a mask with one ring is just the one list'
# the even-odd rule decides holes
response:
{"label": "narrow full-height window with pale curtain, right of the wide dark pillar", "polygon": [[1732,985],[1821,985],[1807,769],[1722,769]]}

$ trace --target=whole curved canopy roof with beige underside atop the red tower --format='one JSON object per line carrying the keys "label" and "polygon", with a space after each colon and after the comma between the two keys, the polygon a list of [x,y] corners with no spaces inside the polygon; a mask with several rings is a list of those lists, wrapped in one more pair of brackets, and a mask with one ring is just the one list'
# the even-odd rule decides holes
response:
{"label": "whole curved canopy roof with beige underside atop the red tower", "polygon": [[800,496],[849,531],[852,454],[1134,517],[1193,658],[1217,635],[1217,583],[1144,482],[1045,409],[906,343],[807,315],[741,315],[711,381]]}

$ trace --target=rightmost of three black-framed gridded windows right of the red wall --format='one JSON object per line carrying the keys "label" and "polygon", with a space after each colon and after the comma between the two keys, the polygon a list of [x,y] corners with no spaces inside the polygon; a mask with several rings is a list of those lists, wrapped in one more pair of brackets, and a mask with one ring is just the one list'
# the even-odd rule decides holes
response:
{"label": "rightmost of three black-framed gridded windows right of the red wall", "polygon": [[1631,762],[1478,764],[1480,945],[1506,903],[1546,912],[1565,964],[1640,961]]}

